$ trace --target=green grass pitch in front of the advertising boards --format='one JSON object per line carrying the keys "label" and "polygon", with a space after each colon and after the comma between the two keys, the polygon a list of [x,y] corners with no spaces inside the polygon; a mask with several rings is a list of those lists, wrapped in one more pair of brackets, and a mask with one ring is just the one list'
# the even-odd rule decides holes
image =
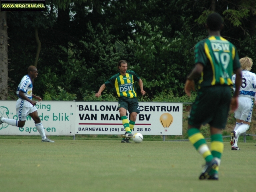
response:
{"label": "green grass pitch in front of the advertising boards", "polygon": [[[209,143],[208,143],[209,144]],[[190,142],[0,139],[1,192],[252,192],[255,143],[224,142],[218,181]]]}

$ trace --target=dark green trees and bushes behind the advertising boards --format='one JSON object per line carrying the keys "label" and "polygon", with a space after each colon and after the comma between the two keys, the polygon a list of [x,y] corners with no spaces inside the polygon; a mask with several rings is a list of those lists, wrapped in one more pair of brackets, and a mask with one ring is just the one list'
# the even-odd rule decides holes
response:
{"label": "dark green trees and bushes behind the advertising boards", "polygon": [[[34,93],[44,100],[116,100],[112,90],[95,98],[117,73],[119,60],[144,82],[142,101],[189,102],[186,76],[194,67],[194,45],[208,36],[207,15],[224,18],[222,36],[240,57],[256,59],[254,0],[48,0],[45,12],[8,12],[9,99],[38,44]],[[252,72],[256,71],[255,65]],[[137,85],[138,86],[138,85]],[[192,97],[193,98],[193,97]]]}

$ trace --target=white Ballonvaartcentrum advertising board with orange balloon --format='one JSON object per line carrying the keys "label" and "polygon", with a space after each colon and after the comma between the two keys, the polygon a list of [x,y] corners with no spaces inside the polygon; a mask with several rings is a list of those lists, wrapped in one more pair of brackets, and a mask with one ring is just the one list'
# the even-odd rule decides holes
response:
{"label": "white Ballonvaartcentrum advertising board with orange balloon", "polygon": [[[139,102],[133,133],[182,135],[182,103]],[[76,102],[76,134],[124,134],[118,102]],[[128,120],[129,114],[127,114]]]}

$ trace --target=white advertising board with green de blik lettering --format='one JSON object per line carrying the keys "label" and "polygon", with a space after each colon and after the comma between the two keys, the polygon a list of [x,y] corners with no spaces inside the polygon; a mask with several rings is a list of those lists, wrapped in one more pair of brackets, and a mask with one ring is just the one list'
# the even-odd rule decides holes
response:
{"label": "white advertising board with green de blik lettering", "polygon": [[[41,101],[36,103],[46,136],[75,135],[75,101]],[[0,116],[18,119],[16,101],[0,101]],[[0,125],[0,135],[40,135],[36,130],[34,120],[27,116],[23,128],[6,123]]]}

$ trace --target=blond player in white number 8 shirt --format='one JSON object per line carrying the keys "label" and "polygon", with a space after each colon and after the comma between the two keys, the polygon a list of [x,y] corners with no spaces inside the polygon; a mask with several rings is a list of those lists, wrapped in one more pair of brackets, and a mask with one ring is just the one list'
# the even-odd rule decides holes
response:
{"label": "blond player in white number 8 shirt", "polygon": [[[256,105],[256,74],[250,72],[253,64],[252,59],[246,56],[239,61],[242,67],[242,85],[238,97],[238,109],[235,111],[236,126],[234,131],[230,133],[231,150],[240,150],[237,145],[238,138],[250,128],[253,104]],[[236,75],[234,74],[232,81],[235,82],[235,80]],[[236,90],[235,87],[234,90]]]}

